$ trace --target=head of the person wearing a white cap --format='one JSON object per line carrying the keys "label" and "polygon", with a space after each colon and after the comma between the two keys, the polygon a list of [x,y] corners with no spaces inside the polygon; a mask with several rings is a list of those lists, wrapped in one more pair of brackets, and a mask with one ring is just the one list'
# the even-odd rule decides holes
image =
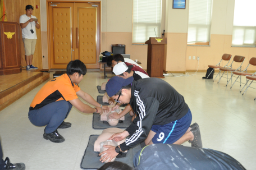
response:
{"label": "head of the person wearing a white cap", "polygon": [[127,79],[133,75],[133,71],[131,71],[131,68],[133,66],[126,66],[124,62],[118,63],[118,65],[115,65],[113,68],[113,72],[116,76],[123,77],[124,79]]}

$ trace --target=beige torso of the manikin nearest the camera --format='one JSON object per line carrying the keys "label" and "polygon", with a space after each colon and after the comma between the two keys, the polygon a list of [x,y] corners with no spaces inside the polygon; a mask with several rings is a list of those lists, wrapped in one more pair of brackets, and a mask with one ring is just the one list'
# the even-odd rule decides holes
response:
{"label": "beige torso of the manikin nearest the camera", "polygon": [[[94,151],[99,151],[99,143],[106,141],[115,133],[121,133],[124,130],[121,128],[111,127],[106,128],[102,131],[102,134],[99,135],[98,139],[94,142]],[[126,139],[118,141],[117,144],[120,145],[125,142]],[[115,159],[114,159],[115,160]]]}

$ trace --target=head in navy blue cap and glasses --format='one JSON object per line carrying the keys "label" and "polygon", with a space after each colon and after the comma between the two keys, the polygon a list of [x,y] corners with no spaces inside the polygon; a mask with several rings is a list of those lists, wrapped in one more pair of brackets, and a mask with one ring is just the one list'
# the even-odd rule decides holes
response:
{"label": "head in navy blue cap and glasses", "polygon": [[132,81],[132,76],[128,79],[124,79],[118,76],[112,77],[108,80],[106,85],[108,96],[116,100],[118,103],[130,103]]}

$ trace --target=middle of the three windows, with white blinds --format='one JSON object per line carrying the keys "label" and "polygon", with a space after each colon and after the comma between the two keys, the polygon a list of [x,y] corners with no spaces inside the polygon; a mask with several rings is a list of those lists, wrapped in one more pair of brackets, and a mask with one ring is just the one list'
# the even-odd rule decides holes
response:
{"label": "middle of the three windows, with white blinds", "polygon": [[209,42],[212,0],[189,1],[188,43]]}

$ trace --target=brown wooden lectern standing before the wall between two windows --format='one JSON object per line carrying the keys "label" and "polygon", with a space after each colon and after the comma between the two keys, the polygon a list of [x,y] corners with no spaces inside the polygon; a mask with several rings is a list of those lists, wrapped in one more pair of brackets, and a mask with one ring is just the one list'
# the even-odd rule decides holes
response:
{"label": "brown wooden lectern standing before the wall between two windows", "polygon": [[167,44],[167,38],[150,37],[145,44],[148,44],[147,73],[149,77],[164,78],[163,56],[164,44]]}

